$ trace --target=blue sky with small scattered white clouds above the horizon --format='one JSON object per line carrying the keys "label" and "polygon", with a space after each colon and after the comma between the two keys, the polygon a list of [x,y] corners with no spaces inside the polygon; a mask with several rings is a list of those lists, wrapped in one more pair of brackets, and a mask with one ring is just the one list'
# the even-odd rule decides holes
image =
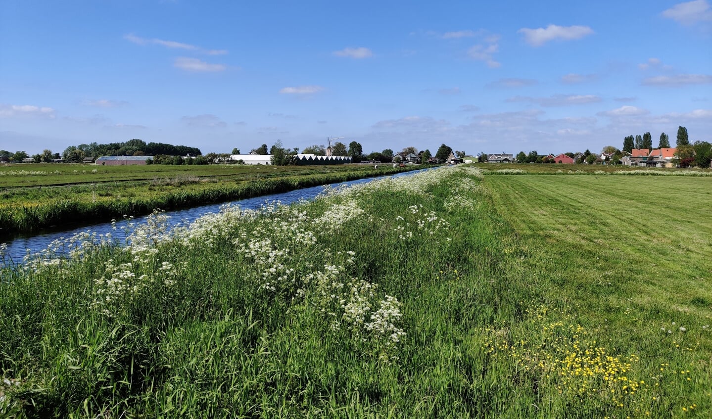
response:
{"label": "blue sky with small scattered white clouds above the horizon", "polygon": [[0,149],[712,142],[712,4],[0,2]]}

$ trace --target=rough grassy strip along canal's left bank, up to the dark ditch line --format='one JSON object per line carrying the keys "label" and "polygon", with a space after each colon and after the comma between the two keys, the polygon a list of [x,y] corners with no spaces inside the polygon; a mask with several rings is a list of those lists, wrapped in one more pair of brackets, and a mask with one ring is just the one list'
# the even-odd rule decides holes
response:
{"label": "rough grassy strip along canal's left bank, up to the dark ditch line", "polygon": [[[245,170],[244,167],[237,167],[242,171]],[[373,169],[371,166],[341,166],[334,169],[329,166],[318,166],[302,168],[299,171],[256,168],[256,171],[244,173],[245,177],[233,173],[230,179],[215,177],[199,179],[195,176],[185,176],[157,179],[140,184],[116,181],[98,185],[75,185],[66,189],[47,187],[0,191],[0,196],[3,198],[0,202],[0,235],[18,231],[28,232],[62,223],[108,221],[123,215],[147,214],[154,208],[164,210],[187,208],[414,169],[421,169],[421,167],[385,166]],[[165,172],[160,173],[165,174]],[[114,173],[118,177],[121,174],[125,174],[125,171]],[[56,181],[56,178],[47,181]]]}

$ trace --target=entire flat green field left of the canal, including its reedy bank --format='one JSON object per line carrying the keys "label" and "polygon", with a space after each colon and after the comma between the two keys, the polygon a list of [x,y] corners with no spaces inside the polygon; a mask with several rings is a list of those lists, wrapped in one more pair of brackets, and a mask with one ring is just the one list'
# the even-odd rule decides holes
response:
{"label": "entire flat green field left of the canal, including its reedy bank", "polygon": [[[14,168],[18,165],[12,165]],[[34,167],[36,166],[36,167]],[[79,221],[109,221],[123,215],[290,191],[306,186],[421,169],[382,165],[340,166],[89,166],[37,164],[0,176],[0,235]],[[41,170],[46,166],[46,170]],[[96,167],[96,166],[93,166]],[[54,169],[50,171],[49,169]],[[58,171],[59,173],[55,173]],[[3,173],[0,171],[0,174]],[[12,173],[12,174],[8,174]],[[94,183],[78,184],[83,182]],[[143,179],[143,180],[142,180]],[[150,179],[150,180],[145,180]],[[25,186],[22,186],[22,185]],[[64,184],[66,186],[58,186]],[[30,186],[35,185],[35,186]],[[10,187],[13,186],[13,187]]]}

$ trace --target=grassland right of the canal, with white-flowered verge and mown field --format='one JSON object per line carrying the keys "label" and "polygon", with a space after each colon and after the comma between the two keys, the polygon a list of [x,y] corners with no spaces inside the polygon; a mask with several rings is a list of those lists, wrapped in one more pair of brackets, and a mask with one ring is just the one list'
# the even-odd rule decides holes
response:
{"label": "grassland right of the canal, with white-flowered verge and mown field", "polygon": [[711,181],[459,166],[158,214],[2,270],[0,413],[708,418]]}

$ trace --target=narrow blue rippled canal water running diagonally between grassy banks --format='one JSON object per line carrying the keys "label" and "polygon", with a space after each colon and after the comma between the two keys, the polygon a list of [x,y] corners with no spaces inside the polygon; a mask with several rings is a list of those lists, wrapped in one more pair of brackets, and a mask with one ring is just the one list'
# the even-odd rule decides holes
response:
{"label": "narrow blue rippled canal water running diagonally between grassy banks", "polygon": [[[410,176],[412,174],[420,173],[426,170],[433,170],[436,168],[422,169],[416,171],[407,171],[399,174],[394,174],[391,176],[381,176],[376,178],[367,179],[357,179],[355,181],[341,182],[337,184],[330,184],[330,187],[345,186],[345,185],[355,185],[371,182],[377,179],[384,179],[389,177],[399,177],[399,176]],[[283,193],[273,193],[271,195],[256,196],[255,198],[241,199],[239,201],[231,201],[230,204],[233,206],[239,206],[243,209],[258,209],[264,205],[265,201],[279,201],[285,205],[290,203],[295,203],[300,199],[310,200],[318,196],[324,191],[325,186],[313,186],[311,188],[295,189],[294,191],[283,192]],[[220,211],[220,207],[226,203],[211,203],[204,206],[196,206],[193,208],[187,208],[184,210],[167,211],[166,215],[170,216],[169,224],[175,226],[181,224],[182,226],[187,223],[192,223],[197,218],[204,216],[209,213],[217,213]],[[145,221],[145,216],[140,216],[132,219],[132,223],[135,226],[139,226]],[[124,226],[122,223],[118,223],[120,226]],[[25,255],[28,253],[34,254],[39,251],[46,249],[47,246],[54,240],[64,240],[70,238],[71,236],[82,233],[84,231],[90,231],[90,233],[96,233],[96,235],[105,235],[107,233],[115,233],[112,230],[112,223],[97,223],[91,225],[75,226],[74,228],[62,228],[62,229],[50,229],[43,230],[40,233],[33,233],[31,235],[15,235],[6,239],[0,239],[0,243],[5,243],[6,248],[0,250],[0,253],[4,254],[4,260],[9,263],[10,260],[14,263],[19,263],[23,260]],[[127,233],[131,233],[128,231]],[[2,260],[0,260],[0,265]]]}

